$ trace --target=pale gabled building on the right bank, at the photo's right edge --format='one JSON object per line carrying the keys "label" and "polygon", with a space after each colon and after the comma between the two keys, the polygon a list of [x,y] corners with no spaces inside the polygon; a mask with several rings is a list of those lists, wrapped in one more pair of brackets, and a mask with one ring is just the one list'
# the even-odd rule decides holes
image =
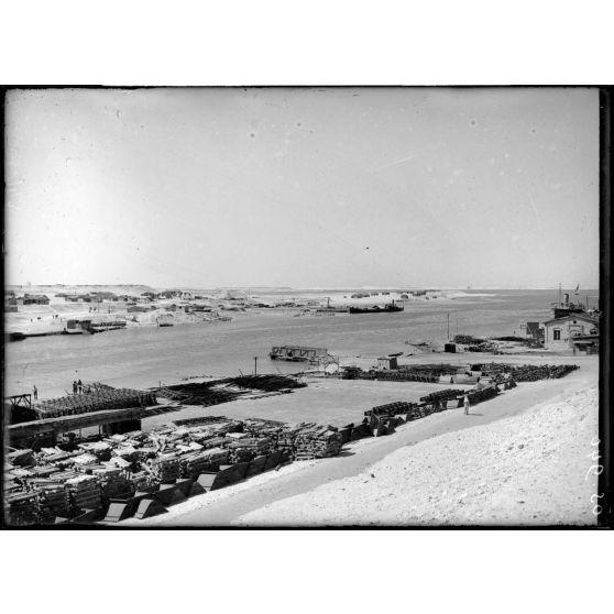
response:
{"label": "pale gabled building on the right bank, at the photo's right edge", "polygon": [[553,351],[585,351],[599,349],[599,318],[588,314],[571,314],[544,322],[544,346]]}

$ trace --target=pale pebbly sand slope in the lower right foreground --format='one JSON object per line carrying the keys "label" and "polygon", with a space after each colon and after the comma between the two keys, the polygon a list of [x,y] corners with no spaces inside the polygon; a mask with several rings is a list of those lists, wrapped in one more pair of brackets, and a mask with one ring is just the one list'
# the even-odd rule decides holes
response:
{"label": "pale pebbly sand slope in the lower right foreground", "polygon": [[544,525],[596,523],[585,479],[597,388],[402,448],[361,474],[277,501],[234,524]]}

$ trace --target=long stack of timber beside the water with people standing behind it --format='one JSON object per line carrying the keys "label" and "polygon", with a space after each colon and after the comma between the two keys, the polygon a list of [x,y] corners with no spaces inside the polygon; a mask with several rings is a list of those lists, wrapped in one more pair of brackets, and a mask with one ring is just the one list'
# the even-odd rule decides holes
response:
{"label": "long stack of timber beside the water with people standing behind it", "polygon": [[151,392],[103,386],[90,393],[39,401],[32,405],[32,409],[36,413],[39,419],[42,419],[101,412],[103,409],[146,407],[156,405],[156,403],[155,394]]}

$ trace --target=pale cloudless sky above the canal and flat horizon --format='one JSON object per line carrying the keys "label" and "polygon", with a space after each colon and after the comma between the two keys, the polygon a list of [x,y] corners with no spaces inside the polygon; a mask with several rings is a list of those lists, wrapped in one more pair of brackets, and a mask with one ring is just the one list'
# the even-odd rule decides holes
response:
{"label": "pale cloudless sky above the canal and flat horizon", "polygon": [[599,92],[12,90],[6,283],[599,286]]}

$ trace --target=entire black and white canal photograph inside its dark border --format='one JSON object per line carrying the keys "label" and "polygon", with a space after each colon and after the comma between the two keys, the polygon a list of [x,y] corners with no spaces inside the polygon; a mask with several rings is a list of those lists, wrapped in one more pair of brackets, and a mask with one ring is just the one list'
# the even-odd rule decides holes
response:
{"label": "entire black and white canal photograph inside its dark border", "polygon": [[13,87],[8,528],[597,527],[599,87]]}

